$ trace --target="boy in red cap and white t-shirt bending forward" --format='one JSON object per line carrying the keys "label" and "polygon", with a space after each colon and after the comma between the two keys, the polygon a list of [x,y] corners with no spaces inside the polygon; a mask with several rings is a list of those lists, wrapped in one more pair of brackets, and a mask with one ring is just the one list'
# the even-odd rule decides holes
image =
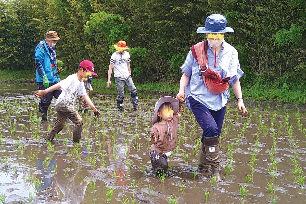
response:
{"label": "boy in red cap and white t-shirt bending forward", "polygon": [[83,119],[74,108],[74,101],[77,96],[82,96],[95,114],[100,113],[88,97],[84,83],[82,81],[82,78],[88,78],[91,75],[98,76],[94,71],[94,64],[89,60],[83,60],[81,61],[79,65],[79,71],[76,74],[69,75],[66,79],[43,91],[37,90],[35,92],[35,97],[41,98],[50,91],[54,91],[59,88],[62,90],[62,93],[59,95],[55,102],[54,109],[57,110],[55,125],[51,132],[48,134],[47,140],[54,139],[55,135],[63,129],[68,117],[74,123],[73,143],[80,142],[83,128]]}

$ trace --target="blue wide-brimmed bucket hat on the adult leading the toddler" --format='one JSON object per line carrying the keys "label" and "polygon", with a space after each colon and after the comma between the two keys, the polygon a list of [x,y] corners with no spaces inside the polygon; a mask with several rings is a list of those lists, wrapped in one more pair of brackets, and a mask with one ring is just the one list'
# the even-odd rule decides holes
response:
{"label": "blue wide-brimmed bucket hat on the adult leading the toddler", "polygon": [[208,16],[205,20],[205,27],[200,26],[196,29],[197,33],[228,33],[234,32],[233,28],[226,27],[226,17],[214,13]]}

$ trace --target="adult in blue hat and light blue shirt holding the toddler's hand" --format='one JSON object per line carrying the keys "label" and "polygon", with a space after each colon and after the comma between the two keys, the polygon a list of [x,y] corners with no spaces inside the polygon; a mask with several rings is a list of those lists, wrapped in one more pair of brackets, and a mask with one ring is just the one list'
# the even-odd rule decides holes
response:
{"label": "adult in blue hat and light blue shirt holding the toddler's hand", "polygon": [[[226,27],[226,18],[221,14],[212,14],[207,17],[205,27],[199,27],[197,33],[207,35],[207,67],[218,72],[221,79],[227,81],[233,88],[237,98],[239,112],[248,114],[244,106],[239,78],[244,74],[240,68],[237,50],[227,43],[223,36],[227,32],[234,32],[233,28]],[[197,58],[199,59],[199,58]],[[177,94],[179,101],[186,100],[187,108],[192,110],[197,122],[203,129],[202,148],[198,163],[200,172],[211,173],[221,180],[219,173],[219,136],[222,129],[226,110],[226,103],[230,97],[230,91],[220,94],[211,93],[204,81],[200,69],[202,69],[190,50],[185,63],[181,66],[184,72],[180,81],[180,90]]]}

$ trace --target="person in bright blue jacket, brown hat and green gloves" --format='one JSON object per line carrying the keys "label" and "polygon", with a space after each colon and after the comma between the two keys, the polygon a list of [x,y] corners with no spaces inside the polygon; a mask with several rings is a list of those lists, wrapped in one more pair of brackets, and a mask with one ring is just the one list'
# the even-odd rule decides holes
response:
{"label": "person in bright blue jacket, brown hat and green gloves", "polygon": [[[46,39],[40,41],[35,48],[36,82],[39,90],[45,90],[61,80],[58,76],[58,71],[61,70],[57,67],[56,52],[54,50],[54,46],[59,39],[55,31],[49,31],[46,34]],[[39,112],[43,120],[47,120],[47,111],[51,104],[52,96],[57,99],[61,92],[60,89],[57,89],[40,98]]]}

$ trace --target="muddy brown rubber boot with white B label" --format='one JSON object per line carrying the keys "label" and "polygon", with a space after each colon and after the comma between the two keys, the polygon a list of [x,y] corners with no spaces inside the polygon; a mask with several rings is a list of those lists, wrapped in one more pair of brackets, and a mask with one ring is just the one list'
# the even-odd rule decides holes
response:
{"label": "muddy brown rubber boot with white B label", "polygon": [[219,172],[220,154],[219,154],[219,137],[204,137],[204,147],[209,164],[211,165],[211,174],[221,180]]}

